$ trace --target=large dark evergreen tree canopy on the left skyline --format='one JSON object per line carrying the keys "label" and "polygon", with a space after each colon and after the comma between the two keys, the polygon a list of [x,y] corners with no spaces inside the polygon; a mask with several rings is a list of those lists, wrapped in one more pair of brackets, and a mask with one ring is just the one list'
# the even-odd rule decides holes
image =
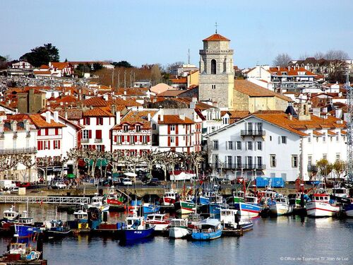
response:
{"label": "large dark evergreen tree canopy on the left skyline", "polygon": [[39,67],[42,64],[49,64],[49,61],[59,61],[59,49],[52,43],[44,44],[40,47],[31,49],[30,52],[23,54],[20,60],[28,61],[32,66]]}

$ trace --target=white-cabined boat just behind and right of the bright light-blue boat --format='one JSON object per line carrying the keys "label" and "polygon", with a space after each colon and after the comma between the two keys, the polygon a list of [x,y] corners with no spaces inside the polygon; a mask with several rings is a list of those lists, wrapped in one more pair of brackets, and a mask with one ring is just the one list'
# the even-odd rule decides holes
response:
{"label": "white-cabined boat just behind and right of the bright light-blue boat", "polygon": [[224,230],[228,229],[242,229],[243,232],[253,229],[253,221],[251,218],[246,218],[239,214],[236,209],[221,209],[220,222]]}

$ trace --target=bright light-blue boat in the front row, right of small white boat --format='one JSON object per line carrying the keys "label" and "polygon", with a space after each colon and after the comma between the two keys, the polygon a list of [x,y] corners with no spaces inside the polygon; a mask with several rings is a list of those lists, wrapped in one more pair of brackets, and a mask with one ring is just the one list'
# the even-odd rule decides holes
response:
{"label": "bright light-blue boat in the front row, right of small white boat", "polygon": [[215,240],[221,237],[222,230],[220,220],[207,218],[194,225],[191,237],[193,240]]}

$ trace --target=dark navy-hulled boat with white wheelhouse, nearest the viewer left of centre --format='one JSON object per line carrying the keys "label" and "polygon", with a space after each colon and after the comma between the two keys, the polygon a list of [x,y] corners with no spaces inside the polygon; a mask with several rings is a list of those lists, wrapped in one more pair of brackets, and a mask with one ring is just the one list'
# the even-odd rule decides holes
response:
{"label": "dark navy-hulled boat with white wheelhouse, nearest the viewer left of centre", "polygon": [[123,240],[140,240],[151,237],[155,231],[155,225],[145,223],[143,216],[137,216],[137,210],[133,216],[126,217],[126,228],[123,230]]}

